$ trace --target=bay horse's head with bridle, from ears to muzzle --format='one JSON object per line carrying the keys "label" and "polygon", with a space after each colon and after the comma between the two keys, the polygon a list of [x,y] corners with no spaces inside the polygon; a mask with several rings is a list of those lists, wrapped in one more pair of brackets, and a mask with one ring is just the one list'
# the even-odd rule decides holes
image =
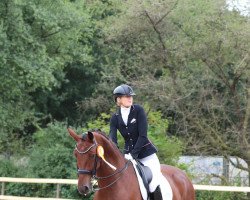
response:
{"label": "bay horse's head with bridle, from ears to muzzle", "polygon": [[72,129],[68,129],[69,134],[77,142],[74,155],[77,160],[78,171],[78,191],[87,195],[91,189],[91,178],[96,173],[99,163],[97,152],[97,142],[92,132],[79,136]]}

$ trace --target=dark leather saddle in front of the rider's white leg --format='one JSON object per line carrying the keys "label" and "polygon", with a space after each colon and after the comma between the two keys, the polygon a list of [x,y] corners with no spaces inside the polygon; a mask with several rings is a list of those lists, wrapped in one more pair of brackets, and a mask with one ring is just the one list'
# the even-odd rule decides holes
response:
{"label": "dark leather saddle in front of the rider's white leg", "polygon": [[136,161],[136,168],[142,178],[142,181],[143,181],[143,184],[147,190],[147,193],[149,194],[149,184],[150,182],[152,181],[152,178],[153,178],[153,174],[152,174],[152,171],[150,170],[149,167],[147,166],[144,166],[141,162],[139,162],[138,160],[135,160]]}

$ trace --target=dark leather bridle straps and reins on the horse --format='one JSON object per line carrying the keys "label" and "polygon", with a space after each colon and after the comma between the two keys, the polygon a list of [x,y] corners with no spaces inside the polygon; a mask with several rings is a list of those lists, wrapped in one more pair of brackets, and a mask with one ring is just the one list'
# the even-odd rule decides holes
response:
{"label": "dark leather bridle straps and reins on the horse", "polygon": [[[98,144],[97,144],[97,142],[96,142],[96,140],[94,139],[94,144],[92,144],[90,147],[88,147],[86,150],[83,150],[83,151],[81,151],[81,150],[79,150],[78,148],[77,148],[77,144],[76,144],[76,147],[75,147],[75,151],[77,151],[77,153],[79,153],[79,154],[86,154],[86,153],[88,153],[93,147],[97,147],[98,146]],[[128,160],[126,163],[125,163],[125,165],[124,165],[124,167],[123,168],[121,168],[121,169],[119,169],[119,170],[116,170],[114,173],[112,173],[112,174],[110,174],[110,175],[108,175],[108,176],[96,176],[96,171],[97,171],[97,164],[98,164],[98,160],[100,159],[99,157],[98,157],[98,155],[97,155],[97,153],[95,154],[95,162],[94,162],[94,167],[93,167],[93,169],[92,170],[87,170],[87,169],[80,169],[80,168],[78,168],[77,167],[77,174],[79,175],[79,174],[88,174],[88,175],[91,175],[91,178],[92,179],[94,179],[94,180],[103,180],[103,179],[108,179],[108,178],[111,178],[111,177],[113,177],[113,176],[115,176],[116,174],[121,174],[121,173],[123,173],[124,171],[126,171],[127,169],[128,169],[128,166],[129,166],[129,163],[131,163],[131,161],[130,160]],[[122,176],[122,175],[121,175]],[[110,184],[108,184],[107,186],[104,186],[104,187],[98,187],[98,188],[92,188],[92,190],[94,190],[94,191],[98,191],[98,190],[101,190],[101,189],[105,189],[105,188],[108,188],[108,187],[110,187],[110,186],[112,186],[113,184],[115,184],[120,178],[121,178],[121,176],[119,176],[117,179],[115,179],[113,182],[111,182]]]}

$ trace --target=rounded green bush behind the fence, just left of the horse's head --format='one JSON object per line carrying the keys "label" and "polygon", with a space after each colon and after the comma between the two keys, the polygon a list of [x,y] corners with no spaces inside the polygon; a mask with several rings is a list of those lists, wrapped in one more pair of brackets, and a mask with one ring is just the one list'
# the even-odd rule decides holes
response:
{"label": "rounded green bush behind the fence, just left of the horse's head", "polygon": [[49,124],[34,134],[35,145],[31,149],[29,172],[40,178],[76,177],[72,162],[74,142],[63,123]]}

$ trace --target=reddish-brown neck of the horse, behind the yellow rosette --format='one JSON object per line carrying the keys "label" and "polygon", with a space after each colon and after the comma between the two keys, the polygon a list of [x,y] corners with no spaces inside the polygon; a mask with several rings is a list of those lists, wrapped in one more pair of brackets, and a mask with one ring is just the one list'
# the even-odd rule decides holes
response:
{"label": "reddish-brown neck of the horse, behind the yellow rosette", "polygon": [[105,140],[101,145],[104,147],[106,160],[117,169],[114,171],[104,161],[101,161],[101,165],[97,169],[100,190],[95,193],[94,199],[141,199],[136,174],[131,163],[110,141]]}

